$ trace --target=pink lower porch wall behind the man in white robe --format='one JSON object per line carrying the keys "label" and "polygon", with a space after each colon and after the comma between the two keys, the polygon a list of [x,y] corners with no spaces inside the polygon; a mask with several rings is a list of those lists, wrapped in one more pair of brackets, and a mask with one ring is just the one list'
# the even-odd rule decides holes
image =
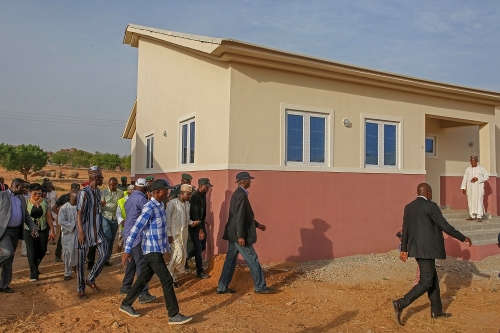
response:
{"label": "pink lower porch wall behind the man in white robe", "polygon": [[[460,185],[462,185],[460,176],[441,176],[441,205],[450,206],[453,209],[468,209],[467,197],[462,194]],[[486,212],[493,215],[498,215],[498,207],[500,207],[498,190],[500,190],[500,183],[497,183],[496,177],[490,176],[484,184],[484,208]]]}

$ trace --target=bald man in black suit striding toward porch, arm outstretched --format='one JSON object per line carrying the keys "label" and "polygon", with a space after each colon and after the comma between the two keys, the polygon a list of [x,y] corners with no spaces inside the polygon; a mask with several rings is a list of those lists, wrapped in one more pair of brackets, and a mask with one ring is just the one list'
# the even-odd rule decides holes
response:
{"label": "bald man in black suit striding toward porch, arm outstretched", "polygon": [[403,298],[392,301],[399,325],[402,325],[403,309],[426,292],[431,301],[431,318],[451,316],[450,313],[443,312],[435,263],[436,259],[446,259],[443,231],[461,242],[469,243],[469,246],[472,245],[471,240],[453,228],[443,217],[438,205],[431,201],[432,188],[429,184],[419,184],[417,194],[417,199],[405,207],[400,259],[406,262],[410,256],[417,260],[420,282]]}

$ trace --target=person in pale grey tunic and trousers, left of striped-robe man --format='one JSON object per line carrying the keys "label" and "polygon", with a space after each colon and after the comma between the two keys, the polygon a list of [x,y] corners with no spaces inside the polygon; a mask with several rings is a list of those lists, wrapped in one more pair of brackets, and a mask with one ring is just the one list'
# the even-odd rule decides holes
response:
{"label": "person in pale grey tunic and trousers, left of striped-robe man", "polygon": [[76,230],[76,201],[78,190],[71,190],[69,202],[59,210],[58,218],[61,226],[61,245],[64,262],[64,281],[72,279],[72,270],[76,272],[78,263],[78,231]]}

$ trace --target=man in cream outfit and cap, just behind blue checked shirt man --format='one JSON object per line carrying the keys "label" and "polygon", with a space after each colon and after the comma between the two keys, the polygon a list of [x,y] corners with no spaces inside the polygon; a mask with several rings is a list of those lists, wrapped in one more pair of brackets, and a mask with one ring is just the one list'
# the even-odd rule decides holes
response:
{"label": "man in cream outfit and cap, just behind blue checked shirt man", "polygon": [[187,259],[187,241],[189,220],[189,199],[193,189],[191,185],[182,184],[181,194],[178,198],[170,200],[167,205],[167,236],[172,249],[172,257],[168,264],[168,270],[174,279],[174,287],[180,287],[177,276],[184,272]]}

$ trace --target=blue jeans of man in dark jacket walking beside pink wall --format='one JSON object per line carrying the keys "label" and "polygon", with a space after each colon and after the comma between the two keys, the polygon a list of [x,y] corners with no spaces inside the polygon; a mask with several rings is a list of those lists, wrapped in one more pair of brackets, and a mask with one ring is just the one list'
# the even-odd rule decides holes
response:
{"label": "blue jeans of man in dark jacket walking beside pink wall", "polygon": [[226,261],[224,261],[224,267],[222,267],[222,273],[220,275],[217,291],[227,290],[229,283],[233,278],[234,270],[236,269],[238,253],[241,254],[243,259],[245,259],[248,268],[250,268],[250,275],[252,275],[254,290],[261,291],[267,289],[266,279],[264,278],[264,273],[262,272],[262,267],[260,266],[259,258],[257,257],[257,253],[255,252],[253,245],[241,246],[237,242],[229,242]]}

